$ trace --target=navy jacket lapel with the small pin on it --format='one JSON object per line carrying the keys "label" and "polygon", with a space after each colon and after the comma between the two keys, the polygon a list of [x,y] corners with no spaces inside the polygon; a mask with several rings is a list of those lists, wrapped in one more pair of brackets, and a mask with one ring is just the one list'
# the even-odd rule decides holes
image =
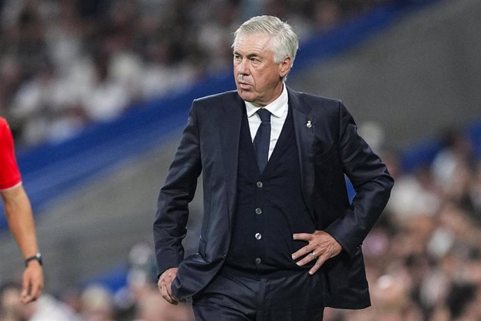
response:
{"label": "navy jacket lapel with the small pin on it", "polygon": [[316,216],[312,205],[312,193],[314,190],[314,127],[316,121],[311,115],[312,108],[300,103],[299,93],[289,89],[289,87],[287,93],[289,94],[289,106],[292,109],[304,202],[315,223]]}

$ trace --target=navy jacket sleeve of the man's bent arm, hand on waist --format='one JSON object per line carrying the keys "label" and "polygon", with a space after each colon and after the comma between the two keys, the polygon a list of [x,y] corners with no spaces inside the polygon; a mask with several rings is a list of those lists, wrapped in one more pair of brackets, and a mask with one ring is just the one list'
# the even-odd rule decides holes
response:
{"label": "navy jacket sleeve of the man's bent arm, hand on waist", "polygon": [[358,135],[353,117],[341,102],[338,143],[344,174],[353,184],[356,196],[326,232],[353,257],[388,202],[394,180],[379,156]]}

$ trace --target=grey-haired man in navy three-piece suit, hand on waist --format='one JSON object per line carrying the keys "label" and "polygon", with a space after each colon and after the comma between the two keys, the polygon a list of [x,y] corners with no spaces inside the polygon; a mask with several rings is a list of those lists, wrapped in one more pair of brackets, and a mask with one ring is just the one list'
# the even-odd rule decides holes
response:
{"label": "grey-haired man in navy three-piece suit, hand on waist", "polygon": [[[365,308],[361,244],[393,184],[339,100],[289,89],[289,24],[234,34],[236,91],[194,100],[153,225],[159,289],[196,320],[321,320]],[[199,253],[181,245],[203,172]],[[356,197],[349,204],[344,174]]]}

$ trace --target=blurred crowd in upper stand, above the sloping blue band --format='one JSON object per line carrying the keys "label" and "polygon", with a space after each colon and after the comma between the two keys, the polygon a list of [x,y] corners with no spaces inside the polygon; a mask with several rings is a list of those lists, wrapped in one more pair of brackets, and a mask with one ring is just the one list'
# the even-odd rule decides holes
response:
{"label": "blurred crowd in upper stand, above the sloping blue band", "polygon": [[300,38],[392,0],[2,0],[0,115],[17,144],[75,135],[230,68],[232,32],[277,15]]}

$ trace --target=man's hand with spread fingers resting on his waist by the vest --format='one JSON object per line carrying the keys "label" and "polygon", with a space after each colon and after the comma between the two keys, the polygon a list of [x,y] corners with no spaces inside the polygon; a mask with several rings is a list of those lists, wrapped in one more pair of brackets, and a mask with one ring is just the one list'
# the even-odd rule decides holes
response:
{"label": "man's hand with spread fingers resting on his waist by the vest", "polygon": [[296,233],[293,234],[293,239],[307,241],[307,245],[301,248],[296,253],[293,253],[292,260],[303,257],[297,264],[303,265],[316,260],[314,267],[310,269],[309,274],[316,273],[317,270],[331,257],[335,257],[342,251],[342,246],[324,231],[314,231],[314,233]]}

